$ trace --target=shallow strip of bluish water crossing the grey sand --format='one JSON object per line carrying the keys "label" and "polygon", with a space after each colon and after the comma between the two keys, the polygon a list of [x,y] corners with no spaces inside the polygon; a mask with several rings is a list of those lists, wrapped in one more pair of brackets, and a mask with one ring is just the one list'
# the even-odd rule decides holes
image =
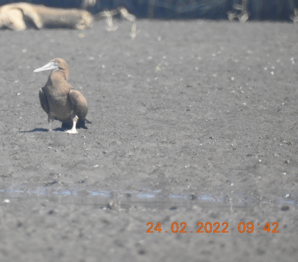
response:
{"label": "shallow strip of bluish water crossing the grey sand", "polygon": [[84,204],[102,205],[103,208],[130,208],[132,206],[142,206],[144,208],[155,209],[177,209],[198,205],[201,207],[212,206],[219,208],[245,208],[247,206],[279,206],[293,205],[298,207],[297,199],[288,197],[276,197],[274,201],[259,200],[256,197],[245,198],[241,195],[203,194],[203,195],[178,195],[171,194],[163,196],[161,190],[147,192],[112,192],[112,191],[89,191],[89,190],[57,190],[49,191],[45,188],[23,190],[16,188],[0,189],[0,201],[9,203],[10,199],[49,199],[60,204]]}

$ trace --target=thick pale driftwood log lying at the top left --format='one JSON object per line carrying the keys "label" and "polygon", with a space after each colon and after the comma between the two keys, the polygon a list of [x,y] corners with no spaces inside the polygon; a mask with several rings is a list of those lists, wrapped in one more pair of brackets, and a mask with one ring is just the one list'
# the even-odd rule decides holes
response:
{"label": "thick pale driftwood log lying at the top left", "polygon": [[86,10],[50,8],[44,5],[14,3],[0,7],[0,29],[25,30],[28,24],[37,28],[67,27],[86,29],[92,15]]}

